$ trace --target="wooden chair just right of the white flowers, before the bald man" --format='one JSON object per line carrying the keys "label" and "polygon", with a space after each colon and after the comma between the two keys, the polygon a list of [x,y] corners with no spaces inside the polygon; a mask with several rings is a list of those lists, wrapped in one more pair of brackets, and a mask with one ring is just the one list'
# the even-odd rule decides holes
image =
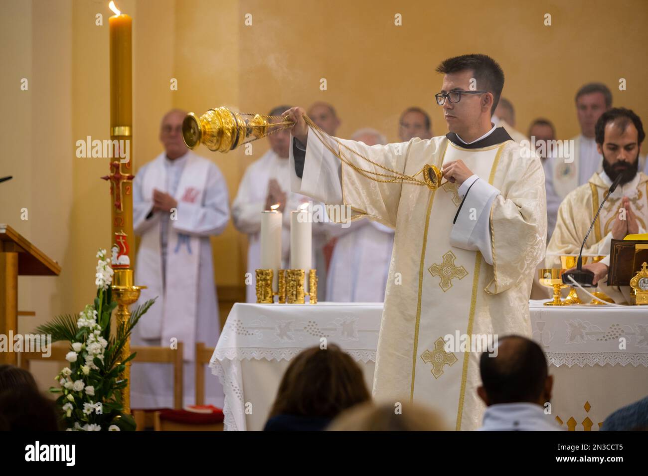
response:
{"label": "wooden chair just right of the white flowers, before the bald man", "polygon": [[[183,344],[178,342],[178,348],[167,346],[131,346],[131,352],[137,352],[132,360],[139,363],[170,363],[173,364],[173,407],[182,408],[183,397]],[[161,409],[131,409],[137,431],[154,427],[154,414]]]}

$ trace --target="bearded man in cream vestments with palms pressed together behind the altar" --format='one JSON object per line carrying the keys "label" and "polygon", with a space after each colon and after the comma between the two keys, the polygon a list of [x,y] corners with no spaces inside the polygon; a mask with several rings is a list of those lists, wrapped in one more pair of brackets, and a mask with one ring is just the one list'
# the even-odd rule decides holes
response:
{"label": "bearded man in cream vestments with palms pressed together behind the altar", "polygon": [[[596,210],[619,176],[621,181],[603,205],[583,248],[583,255],[606,256],[600,264],[590,267],[595,271],[596,281],[607,275],[612,238],[623,240],[627,234],[645,233],[648,176],[638,172],[643,139],[642,120],[630,109],[612,108],[597,120],[596,144],[598,153],[603,155],[603,170],[592,174],[588,183],[562,201],[556,229],[547,247],[547,267],[560,267],[560,255],[579,253]],[[601,286],[601,290],[610,295],[607,287]],[[627,300],[618,292],[615,294],[615,300]]]}

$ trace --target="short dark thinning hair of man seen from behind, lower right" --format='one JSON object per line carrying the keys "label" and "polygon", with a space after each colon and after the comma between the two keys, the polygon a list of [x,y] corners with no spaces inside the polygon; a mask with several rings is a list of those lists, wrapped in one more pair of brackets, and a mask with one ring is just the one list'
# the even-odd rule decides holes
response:
{"label": "short dark thinning hair of man seen from behind, lower right", "polygon": [[548,368],[544,352],[537,343],[520,335],[501,337],[513,345],[511,352],[498,352],[480,358],[481,382],[491,404],[537,402],[544,390]]}

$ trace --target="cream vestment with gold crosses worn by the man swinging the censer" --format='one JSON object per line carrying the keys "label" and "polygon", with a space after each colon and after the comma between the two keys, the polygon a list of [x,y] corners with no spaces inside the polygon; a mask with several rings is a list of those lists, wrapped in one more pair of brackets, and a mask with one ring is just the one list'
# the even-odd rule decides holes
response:
{"label": "cream vestment with gold crosses worn by the man swinging the censer", "polygon": [[[441,411],[452,428],[477,429],[484,409],[476,393],[481,352],[459,343],[446,351],[444,337],[531,336],[529,292],[546,237],[542,164],[534,154],[520,153],[521,146],[502,128],[461,146],[454,134],[371,147],[340,142],[403,174],[461,159],[478,177],[463,205],[450,183],[435,191],[412,183],[377,183],[341,164],[309,130],[301,179],[297,160],[292,183],[297,192],[349,205],[358,216],[395,228],[373,383],[376,400],[424,403]],[[292,161],[294,154],[291,150]],[[360,168],[384,172],[344,155]]]}

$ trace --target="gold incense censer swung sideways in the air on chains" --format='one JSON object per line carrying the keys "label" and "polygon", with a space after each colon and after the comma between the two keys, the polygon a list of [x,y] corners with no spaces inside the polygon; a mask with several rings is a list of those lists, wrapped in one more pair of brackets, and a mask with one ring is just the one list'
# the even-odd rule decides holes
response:
{"label": "gold incense censer swung sideways in the air on chains", "polygon": [[209,109],[200,117],[189,113],[182,121],[182,138],[190,149],[204,144],[211,151],[227,153],[244,142],[256,141],[293,124],[288,117],[279,122],[273,122],[272,118],[262,114],[235,113],[224,106]]}

